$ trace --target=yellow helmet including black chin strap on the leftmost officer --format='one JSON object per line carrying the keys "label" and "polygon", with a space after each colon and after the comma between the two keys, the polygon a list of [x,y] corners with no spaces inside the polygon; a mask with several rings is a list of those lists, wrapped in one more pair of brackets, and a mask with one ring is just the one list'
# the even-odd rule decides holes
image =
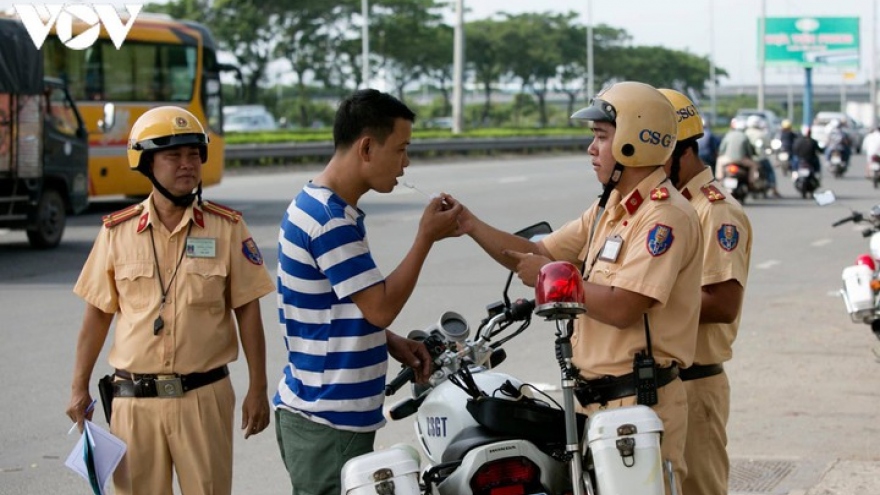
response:
{"label": "yellow helmet including black chin strap on the leftmost officer", "polygon": [[195,115],[175,106],[161,106],[147,110],[134,125],[128,139],[128,166],[142,173],[160,194],[176,206],[189,206],[199,198],[202,182],[195,192],[174,195],[156,180],[151,167],[153,154],[178,146],[196,146],[202,163],[208,160],[208,135]]}

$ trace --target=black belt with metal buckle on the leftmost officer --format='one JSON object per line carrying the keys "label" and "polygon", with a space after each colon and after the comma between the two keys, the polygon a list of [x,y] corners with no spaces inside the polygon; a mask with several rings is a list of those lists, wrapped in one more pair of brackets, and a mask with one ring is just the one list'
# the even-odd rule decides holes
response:
{"label": "black belt with metal buckle on the leftmost officer", "polygon": [[204,373],[178,374],[138,374],[116,370],[122,380],[113,382],[113,397],[181,397],[190,390],[210,385],[229,375],[226,365]]}

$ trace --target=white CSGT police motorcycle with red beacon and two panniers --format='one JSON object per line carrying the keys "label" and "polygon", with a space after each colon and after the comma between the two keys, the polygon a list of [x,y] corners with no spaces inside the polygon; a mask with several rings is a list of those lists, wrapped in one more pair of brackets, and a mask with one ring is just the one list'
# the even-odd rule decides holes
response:
{"label": "white CSGT police motorcycle with red beacon and two panniers", "polygon": [[[542,223],[518,234],[534,238],[549,231]],[[573,272],[582,301],[580,274]],[[653,410],[633,406],[603,411],[588,422],[574,412],[573,379],[563,383],[569,390],[560,406],[532,385],[495,371],[505,357],[502,346],[529,327],[535,310],[535,300],[510,301],[512,275],[503,300],[487,307],[473,337],[466,320],[451,311],[411,333],[427,346],[434,372],[427,384],[413,384],[412,397],[390,407],[387,415],[391,420],[416,416],[416,436],[428,460],[421,477],[418,453],[394,446],[348,461],[341,473],[344,494],[663,494],[658,476],[663,472],[662,422]],[[538,314],[550,319],[576,314],[565,301],[553,299],[564,292],[536,297],[542,303]],[[557,344],[563,340],[558,338]],[[557,347],[560,366],[566,355],[570,366],[570,341],[567,351]],[[386,395],[411,382],[413,375],[404,368],[388,384]],[[588,441],[581,442],[585,431],[594,442],[586,470],[581,464],[583,453],[590,452]],[[593,489],[597,475],[598,492]]]}

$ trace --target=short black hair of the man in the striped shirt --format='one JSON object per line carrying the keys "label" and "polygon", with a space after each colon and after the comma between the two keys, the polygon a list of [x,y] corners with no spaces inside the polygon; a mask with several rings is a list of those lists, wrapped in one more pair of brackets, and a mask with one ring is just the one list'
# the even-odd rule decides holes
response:
{"label": "short black hair of the man in the striped shirt", "polygon": [[361,89],[342,100],[333,121],[333,147],[353,145],[365,132],[380,143],[394,132],[394,121],[415,122],[416,114],[394,96],[375,89]]}

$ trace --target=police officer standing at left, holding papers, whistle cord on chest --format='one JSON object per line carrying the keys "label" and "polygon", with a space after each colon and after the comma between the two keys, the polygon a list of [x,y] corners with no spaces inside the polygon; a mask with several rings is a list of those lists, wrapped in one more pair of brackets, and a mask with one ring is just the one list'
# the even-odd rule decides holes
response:
{"label": "police officer standing at left, holding papers, whistle cord on chest", "polygon": [[[114,317],[111,431],[128,446],[117,495],[232,492],[235,394],[227,364],[247,358],[245,438],[269,424],[259,298],[270,278],[241,214],[201,200],[208,136],[191,113],[158,107],[135,122],[132,169],[153,192],[104,217],[74,292],[86,302],[67,415],[91,418],[89,381]],[[238,335],[236,335],[236,326]]]}

